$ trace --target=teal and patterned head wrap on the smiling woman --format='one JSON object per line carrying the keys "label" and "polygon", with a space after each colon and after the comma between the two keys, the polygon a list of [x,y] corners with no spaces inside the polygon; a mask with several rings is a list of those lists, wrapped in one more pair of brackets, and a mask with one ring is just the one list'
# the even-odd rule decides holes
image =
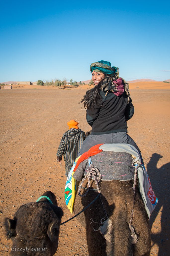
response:
{"label": "teal and patterned head wrap on the smiling woman", "polygon": [[104,74],[108,74],[110,76],[119,77],[119,68],[112,67],[109,61],[100,60],[90,65],[90,71],[93,72],[102,72]]}

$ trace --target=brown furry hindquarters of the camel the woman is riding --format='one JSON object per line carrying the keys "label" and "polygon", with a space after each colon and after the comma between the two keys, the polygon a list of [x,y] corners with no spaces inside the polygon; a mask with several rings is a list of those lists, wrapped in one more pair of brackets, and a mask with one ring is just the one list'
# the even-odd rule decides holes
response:
{"label": "brown furry hindquarters of the camel the woman is riding", "polygon": [[[95,188],[94,182],[91,181],[91,183],[92,187]],[[101,190],[101,199],[99,197],[77,217],[86,228],[89,256],[149,256],[151,247],[149,219],[139,194],[138,186],[136,186],[132,220],[138,241],[132,245],[128,223],[130,222],[134,202],[133,181],[101,181],[99,188]],[[83,189],[81,189],[82,193],[84,193]],[[85,197],[80,197],[76,193],[74,213],[77,214],[85,208],[97,195],[98,191],[94,190],[90,190]],[[111,243],[106,241],[99,231],[94,231],[101,225],[102,218],[107,219],[101,200],[108,217],[113,223]]]}

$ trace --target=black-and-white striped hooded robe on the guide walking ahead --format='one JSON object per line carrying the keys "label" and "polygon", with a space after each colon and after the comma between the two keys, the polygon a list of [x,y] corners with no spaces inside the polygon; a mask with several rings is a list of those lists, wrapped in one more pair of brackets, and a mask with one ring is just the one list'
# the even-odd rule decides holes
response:
{"label": "black-and-white striped hooded robe on the guide walking ahead", "polygon": [[66,164],[66,176],[68,176],[85,138],[86,135],[81,129],[71,128],[63,134],[57,157],[61,158],[63,155]]}

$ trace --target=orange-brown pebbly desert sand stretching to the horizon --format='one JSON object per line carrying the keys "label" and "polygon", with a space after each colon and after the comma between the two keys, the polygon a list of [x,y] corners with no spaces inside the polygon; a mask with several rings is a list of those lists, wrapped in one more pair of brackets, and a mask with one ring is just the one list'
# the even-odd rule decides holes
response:
{"label": "orange-brown pebbly desert sand stretching to the horizon", "polygon": [[[159,198],[150,218],[150,255],[169,255],[169,84],[143,82],[129,87],[135,114],[128,121],[128,132],[145,158]],[[56,162],[56,152],[67,121],[75,119],[82,130],[90,129],[79,104],[87,88],[13,86],[0,90],[0,255],[8,255],[12,245],[5,238],[3,218],[12,217],[20,205],[35,201],[46,190],[55,193],[64,211],[62,221],[72,217],[64,200],[65,166],[63,161]],[[55,255],[88,255],[85,229],[76,219],[61,226]]]}

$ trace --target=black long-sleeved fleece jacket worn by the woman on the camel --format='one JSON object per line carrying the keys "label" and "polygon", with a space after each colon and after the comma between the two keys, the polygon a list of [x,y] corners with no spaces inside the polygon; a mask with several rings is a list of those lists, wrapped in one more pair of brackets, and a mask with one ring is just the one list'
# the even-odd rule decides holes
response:
{"label": "black long-sleeved fleece jacket worn by the woman on the camel", "polygon": [[92,134],[127,132],[127,120],[134,114],[134,106],[124,92],[116,96],[113,92],[100,90],[101,99],[92,110],[86,110],[86,119],[92,127]]}

